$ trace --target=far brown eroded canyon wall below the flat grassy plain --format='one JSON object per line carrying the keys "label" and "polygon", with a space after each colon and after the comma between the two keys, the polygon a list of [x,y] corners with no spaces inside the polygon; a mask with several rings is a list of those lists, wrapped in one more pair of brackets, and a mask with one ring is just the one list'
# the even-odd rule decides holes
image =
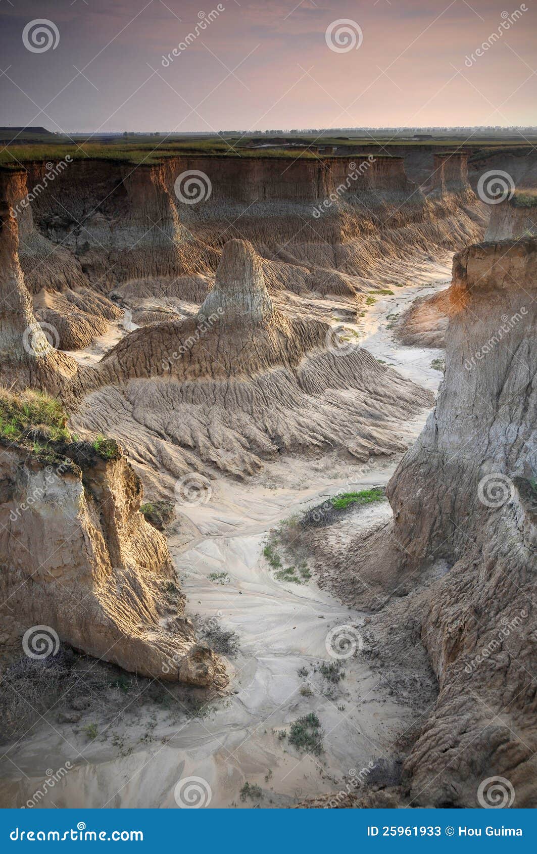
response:
{"label": "far brown eroded canyon wall below the flat grassy plain", "polygon": [[[43,183],[44,170],[28,164],[28,188]],[[54,192],[47,187],[35,197],[32,216],[46,239],[74,255],[78,275],[94,288],[149,278],[159,292],[162,280],[178,279],[185,298],[198,302],[207,295],[203,277],[234,237],[254,243],[268,262],[299,268],[312,290],[327,278],[312,278],[319,270],[367,277],[386,261],[445,257],[480,237],[485,222],[475,196],[465,196],[464,207],[454,196],[429,200],[406,177],[402,158],[378,154],[355,161],[77,160],[55,177]],[[289,286],[293,277],[273,278]],[[328,292],[330,280],[323,287]]]}

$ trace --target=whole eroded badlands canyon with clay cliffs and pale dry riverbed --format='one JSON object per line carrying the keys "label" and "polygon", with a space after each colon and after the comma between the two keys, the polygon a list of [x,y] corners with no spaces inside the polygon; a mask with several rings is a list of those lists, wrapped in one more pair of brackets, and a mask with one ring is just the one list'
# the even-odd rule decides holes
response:
{"label": "whole eroded badlands canyon with clay cliffs and pale dry riverbed", "polygon": [[[104,706],[58,698],[7,742],[23,776],[0,766],[5,805],[47,750],[70,756],[64,733],[63,806],[174,806],[178,764],[216,806],[245,783],[264,806],[475,806],[493,775],[535,805],[533,196],[488,222],[464,155],[411,163],[419,184],[381,154],[73,161],[26,206],[44,163],[2,170],[4,682],[27,630],[50,627],[60,656],[214,716],[178,735],[152,709],[155,736],[130,743],[127,721],[107,746]],[[212,184],[199,204],[176,183],[192,170]],[[388,478],[393,513],[335,512]],[[274,557],[276,523],[302,581]],[[341,624],[360,638],[346,693]],[[324,748],[283,752],[306,712]],[[142,804],[117,779],[148,762]]]}

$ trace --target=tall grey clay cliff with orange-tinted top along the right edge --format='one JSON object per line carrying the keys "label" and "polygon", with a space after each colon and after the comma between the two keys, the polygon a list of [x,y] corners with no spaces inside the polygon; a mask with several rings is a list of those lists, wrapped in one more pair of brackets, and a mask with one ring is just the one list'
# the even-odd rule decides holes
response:
{"label": "tall grey clay cliff with orange-tinted top along the right edge", "polygon": [[417,612],[439,681],[399,803],[478,806],[499,776],[506,803],[537,805],[535,295],[535,238],[455,255],[446,375],[388,484],[393,523],[327,558],[348,604]]}

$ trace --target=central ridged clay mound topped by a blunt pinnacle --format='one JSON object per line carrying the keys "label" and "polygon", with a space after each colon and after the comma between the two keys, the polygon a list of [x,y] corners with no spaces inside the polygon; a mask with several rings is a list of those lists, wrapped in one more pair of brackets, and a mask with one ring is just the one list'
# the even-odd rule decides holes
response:
{"label": "central ridged clay mound topped by a blunt pinnacle", "polygon": [[244,477],[292,453],[389,455],[408,445],[402,422],[431,402],[329,325],[283,316],[260,257],[238,240],[196,317],[131,332],[99,373],[104,388],[76,424],[106,424],[133,459],[171,477],[207,466]]}

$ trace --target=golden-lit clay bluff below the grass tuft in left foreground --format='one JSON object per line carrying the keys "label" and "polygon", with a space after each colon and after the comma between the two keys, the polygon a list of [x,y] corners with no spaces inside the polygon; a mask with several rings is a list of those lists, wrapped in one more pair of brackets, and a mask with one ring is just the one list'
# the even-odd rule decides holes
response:
{"label": "golden-lit clay bluff below the grass tuft in left foreground", "polygon": [[166,539],[139,512],[141,483],[119,448],[108,459],[89,443],[56,451],[4,443],[0,455],[3,634],[50,627],[140,676],[225,685],[184,617]]}

